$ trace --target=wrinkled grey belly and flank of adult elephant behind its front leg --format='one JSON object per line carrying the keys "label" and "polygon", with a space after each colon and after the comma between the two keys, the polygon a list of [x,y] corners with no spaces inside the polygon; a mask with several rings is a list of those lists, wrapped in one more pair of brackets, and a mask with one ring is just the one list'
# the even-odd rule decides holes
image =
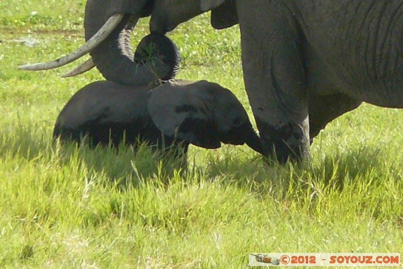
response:
{"label": "wrinkled grey belly and flank of adult elephant behind its front leg", "polygon": [[315,94],[340,92],[375,105],[403,107],[401,1],[304,1],[307,78]]}

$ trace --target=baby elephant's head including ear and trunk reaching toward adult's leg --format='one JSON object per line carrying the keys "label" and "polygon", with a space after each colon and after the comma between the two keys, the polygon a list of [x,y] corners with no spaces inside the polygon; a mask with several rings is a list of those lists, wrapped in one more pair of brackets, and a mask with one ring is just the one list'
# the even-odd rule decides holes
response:
{"label": "baby elephant's head including ear and trunk reaching toward adult's leg", "polygon": [[204,148],[246,143],[261,153],[242,104],[217,83],[171,80],[151,91],[148,111],[164,135]]}

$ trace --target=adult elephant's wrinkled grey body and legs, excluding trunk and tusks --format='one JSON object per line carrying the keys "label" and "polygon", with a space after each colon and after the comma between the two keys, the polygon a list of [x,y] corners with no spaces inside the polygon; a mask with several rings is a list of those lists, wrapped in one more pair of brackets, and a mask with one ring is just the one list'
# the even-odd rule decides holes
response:
{"label": "adult elephant's wrinkled grey body and legs, excluding trunk and tusks", "polygon": [[[111,13],[147,10],[120,2]],[[151,13],[151,31],[165,33],[208,10],[217,29],[239,23],[245,88],[263,152],[275,148],[281,162],[307,158],[312,138],[362,101],[403,106],[402,0],[154,2],[142,14]]]}

